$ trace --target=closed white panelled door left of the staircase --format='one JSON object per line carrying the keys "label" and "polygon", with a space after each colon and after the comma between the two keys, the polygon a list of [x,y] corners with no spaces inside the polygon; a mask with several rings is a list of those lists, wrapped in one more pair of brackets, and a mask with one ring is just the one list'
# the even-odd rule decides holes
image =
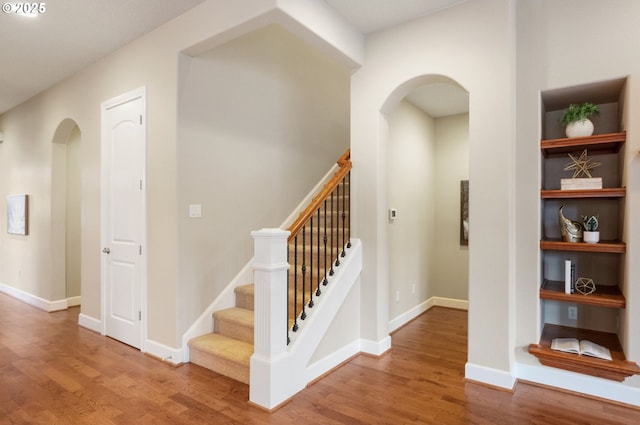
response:
{"label": "closed white panelled door left of the staircase", "polygon": [[142,348],[145,90],[102,104],[104,334]]}

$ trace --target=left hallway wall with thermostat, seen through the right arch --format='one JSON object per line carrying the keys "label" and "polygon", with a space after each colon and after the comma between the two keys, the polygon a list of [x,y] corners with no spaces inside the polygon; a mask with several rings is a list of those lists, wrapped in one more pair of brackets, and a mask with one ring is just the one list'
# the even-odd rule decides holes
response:
{"label": "left hallway wall with thermostat, seen through the right arch", "polygon": [[433,296],[435,242],[435,120],[402,101],[388,116],[387,208],[389,318]]}

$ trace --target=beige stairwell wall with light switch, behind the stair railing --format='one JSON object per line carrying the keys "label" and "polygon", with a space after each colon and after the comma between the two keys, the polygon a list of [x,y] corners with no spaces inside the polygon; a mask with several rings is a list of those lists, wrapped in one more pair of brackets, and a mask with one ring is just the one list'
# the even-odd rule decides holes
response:
{"label": "beige stairwell wall with light switch, behind the stair railing", "polygon": [[179,78],[184,332],[253,256],[250,232],[283,223],[348,149],[350,70],[269,26],[183,57]]}

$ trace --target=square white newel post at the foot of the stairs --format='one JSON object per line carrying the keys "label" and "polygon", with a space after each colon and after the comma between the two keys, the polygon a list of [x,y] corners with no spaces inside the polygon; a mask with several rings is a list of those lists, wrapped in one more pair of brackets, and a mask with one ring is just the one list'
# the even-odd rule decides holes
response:
{"label": "square white newel post at the foot of the stairs", "polygon": [[[266,408],[283,396],[282,361],[287,354],[287,238],[281,229],[251,232],[254,239],[254,353],[249,399]],[[286,385],[285,385],[286,386]],[[284,390],[286,393],[287,391]]]}

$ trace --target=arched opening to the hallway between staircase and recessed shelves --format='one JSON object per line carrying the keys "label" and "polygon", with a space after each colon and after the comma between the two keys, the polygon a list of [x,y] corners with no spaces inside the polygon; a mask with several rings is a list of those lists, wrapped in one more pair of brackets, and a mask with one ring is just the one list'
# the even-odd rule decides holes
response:
{"label": "arched opening to the hallway between staircase and recessed shelves", "polygon": [[467,308],[461,187],[469,180],[469,98],[442,76],[414,79],[392,98],[384,112],[393,330],[434,305]]}

